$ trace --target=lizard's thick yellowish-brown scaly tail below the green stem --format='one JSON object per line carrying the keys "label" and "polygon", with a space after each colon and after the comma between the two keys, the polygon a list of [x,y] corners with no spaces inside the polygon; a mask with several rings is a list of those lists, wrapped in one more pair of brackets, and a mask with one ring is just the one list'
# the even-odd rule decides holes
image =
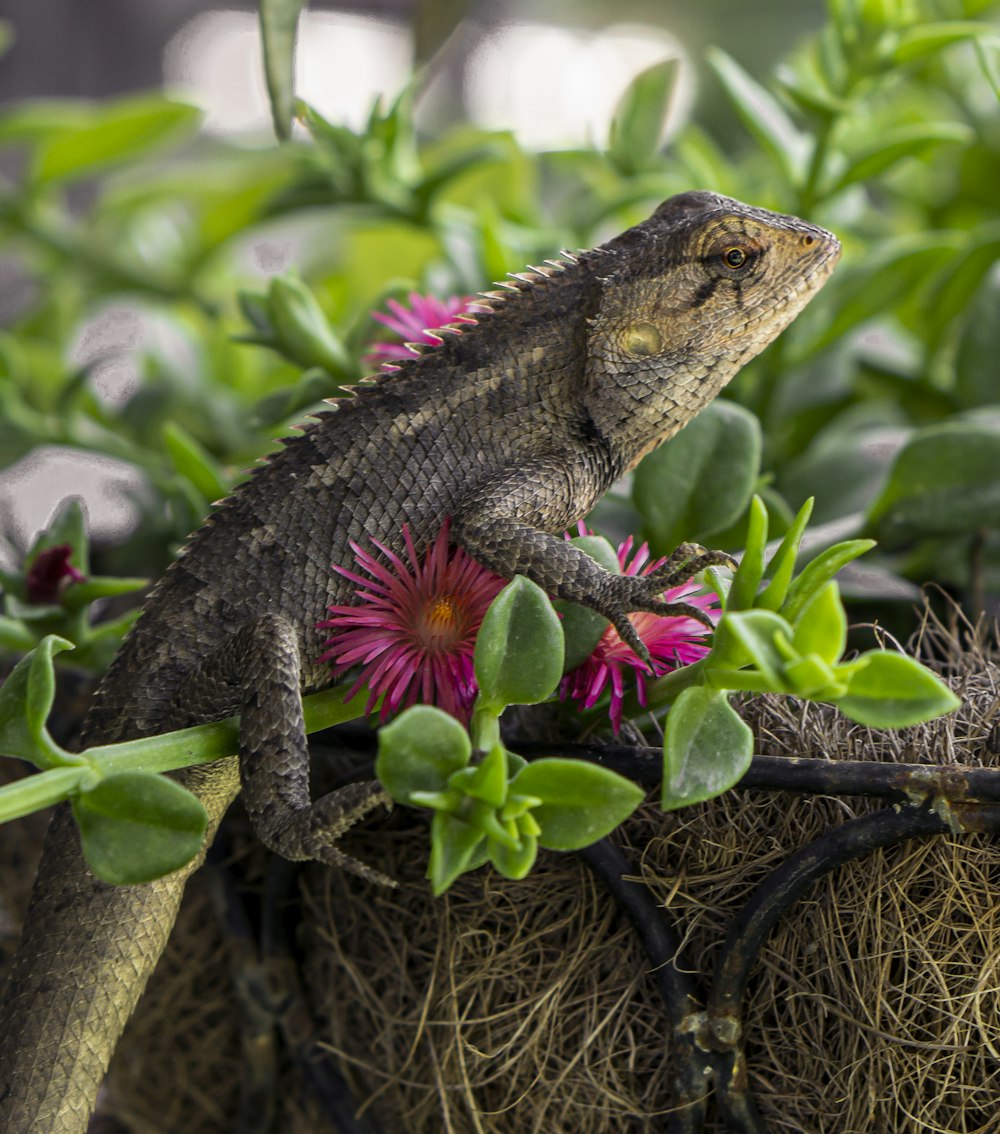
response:
{"label": "lizard's thick yellowish-brown scaly tail below the green stem", "polygon": [[[167,945],[185,882],[236,794],[236,761],[224,763],[223,776],[220,764],[209,765],[217,777],[211,795],[197,793],[210,824],[202,854],[155,882],[116,887],[95,879],[69,807],[56,813],[39,866],[44,881],[35,887],[0,1008],[3,1134],[86,1131],[118,1038]],[[186,786],[197,792],[204,771],[192,769]]]}

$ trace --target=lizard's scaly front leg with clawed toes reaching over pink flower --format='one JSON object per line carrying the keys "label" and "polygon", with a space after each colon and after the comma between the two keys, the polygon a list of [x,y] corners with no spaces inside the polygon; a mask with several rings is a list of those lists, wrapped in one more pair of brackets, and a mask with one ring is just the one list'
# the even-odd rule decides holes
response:
{"label": "lizard's scaly front leg with clawed toes reaching over pink flower", "polygon": [[481,489],[452,517],[452,538],[499,575],[526,575],[548,594],[596,610],[649,665],[649,650],[629,613],[645,610],[685,616],[712,628],[698,608],[664,602],[661,595],[705,567],[732,560],[722,551],[681,544],[649,575],[613,575],[567,540],[550,534],[552,527],[566,527],[577,519],[593,503],[594,496],[593,489],[577,489],[569,472],[553,476],[551,466],[511,469]]}

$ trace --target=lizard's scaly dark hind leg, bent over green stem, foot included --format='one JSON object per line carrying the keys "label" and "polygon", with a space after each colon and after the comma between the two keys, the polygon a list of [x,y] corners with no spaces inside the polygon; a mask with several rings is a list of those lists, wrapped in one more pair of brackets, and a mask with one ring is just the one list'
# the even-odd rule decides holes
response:
{"label": "lizard's scaly dark hind leg, bent over green stem, foot included", "polygon": [[280,615],[262,615],[187,679],[179,701],[196,714],[209,714],[214,705],[218,716],[219,704],[236,704],[243,801],[265,846],[285,858],[316,858],[395,886],[336,846],[373,807],[389,805],[380,785],[348,784],[315,802],[311,798],[300,669],[291,624]]}

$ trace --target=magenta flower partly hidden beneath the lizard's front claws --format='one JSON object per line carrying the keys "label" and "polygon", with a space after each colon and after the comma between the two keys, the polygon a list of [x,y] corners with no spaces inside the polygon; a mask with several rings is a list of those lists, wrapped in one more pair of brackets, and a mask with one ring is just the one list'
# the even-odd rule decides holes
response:
{"label": "magenta flower partly hidden beneath the lizard's front claws", "polygon": [[[584,531],[580,534],[586,534]],[[654,572],[663,559],[647,562],[650,549],[644,543],[629,561],[633,540],[629,536],[618,547],[618,562],[622,575],[649,575]],[[718,621],[722,611],[719,609],[717,594],[696,594],[697,583],[685,583],[663,592],[664,602],[684,601],[703,610],[709,618]],[[709,631],[700,621],[681,616],[653,615],[637,611],[629,616],[639,638],[650,651],[650,658],[656,676],[668,670],[689,666],[693,661],[704,658],[711,649],[706,636]],[[630,646],[621,641],[618,631],[609,626],[601,635],[593,653],[576,669],[570,670],[559,686],[559,695],[566,700],[578,701],[584,709],[594,705],[605,688],[611,689],[611,727],[617,733],[621,728],[621,710],[625,700],[625,674],[628,669],[635,671],[639,704],[646,703],[646,679],[649,669]]]}

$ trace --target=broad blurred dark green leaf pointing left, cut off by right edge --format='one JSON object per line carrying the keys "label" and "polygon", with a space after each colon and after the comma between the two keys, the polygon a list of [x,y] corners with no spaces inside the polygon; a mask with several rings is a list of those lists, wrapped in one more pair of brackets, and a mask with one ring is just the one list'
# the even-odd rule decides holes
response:
{"label": "broad blurred dark green leaf pointing left, cut off by right edge", "polygon": [[1000,523],[1000,422],[956,420],[916,432],[868,518],[887,535],[947,535]]}

